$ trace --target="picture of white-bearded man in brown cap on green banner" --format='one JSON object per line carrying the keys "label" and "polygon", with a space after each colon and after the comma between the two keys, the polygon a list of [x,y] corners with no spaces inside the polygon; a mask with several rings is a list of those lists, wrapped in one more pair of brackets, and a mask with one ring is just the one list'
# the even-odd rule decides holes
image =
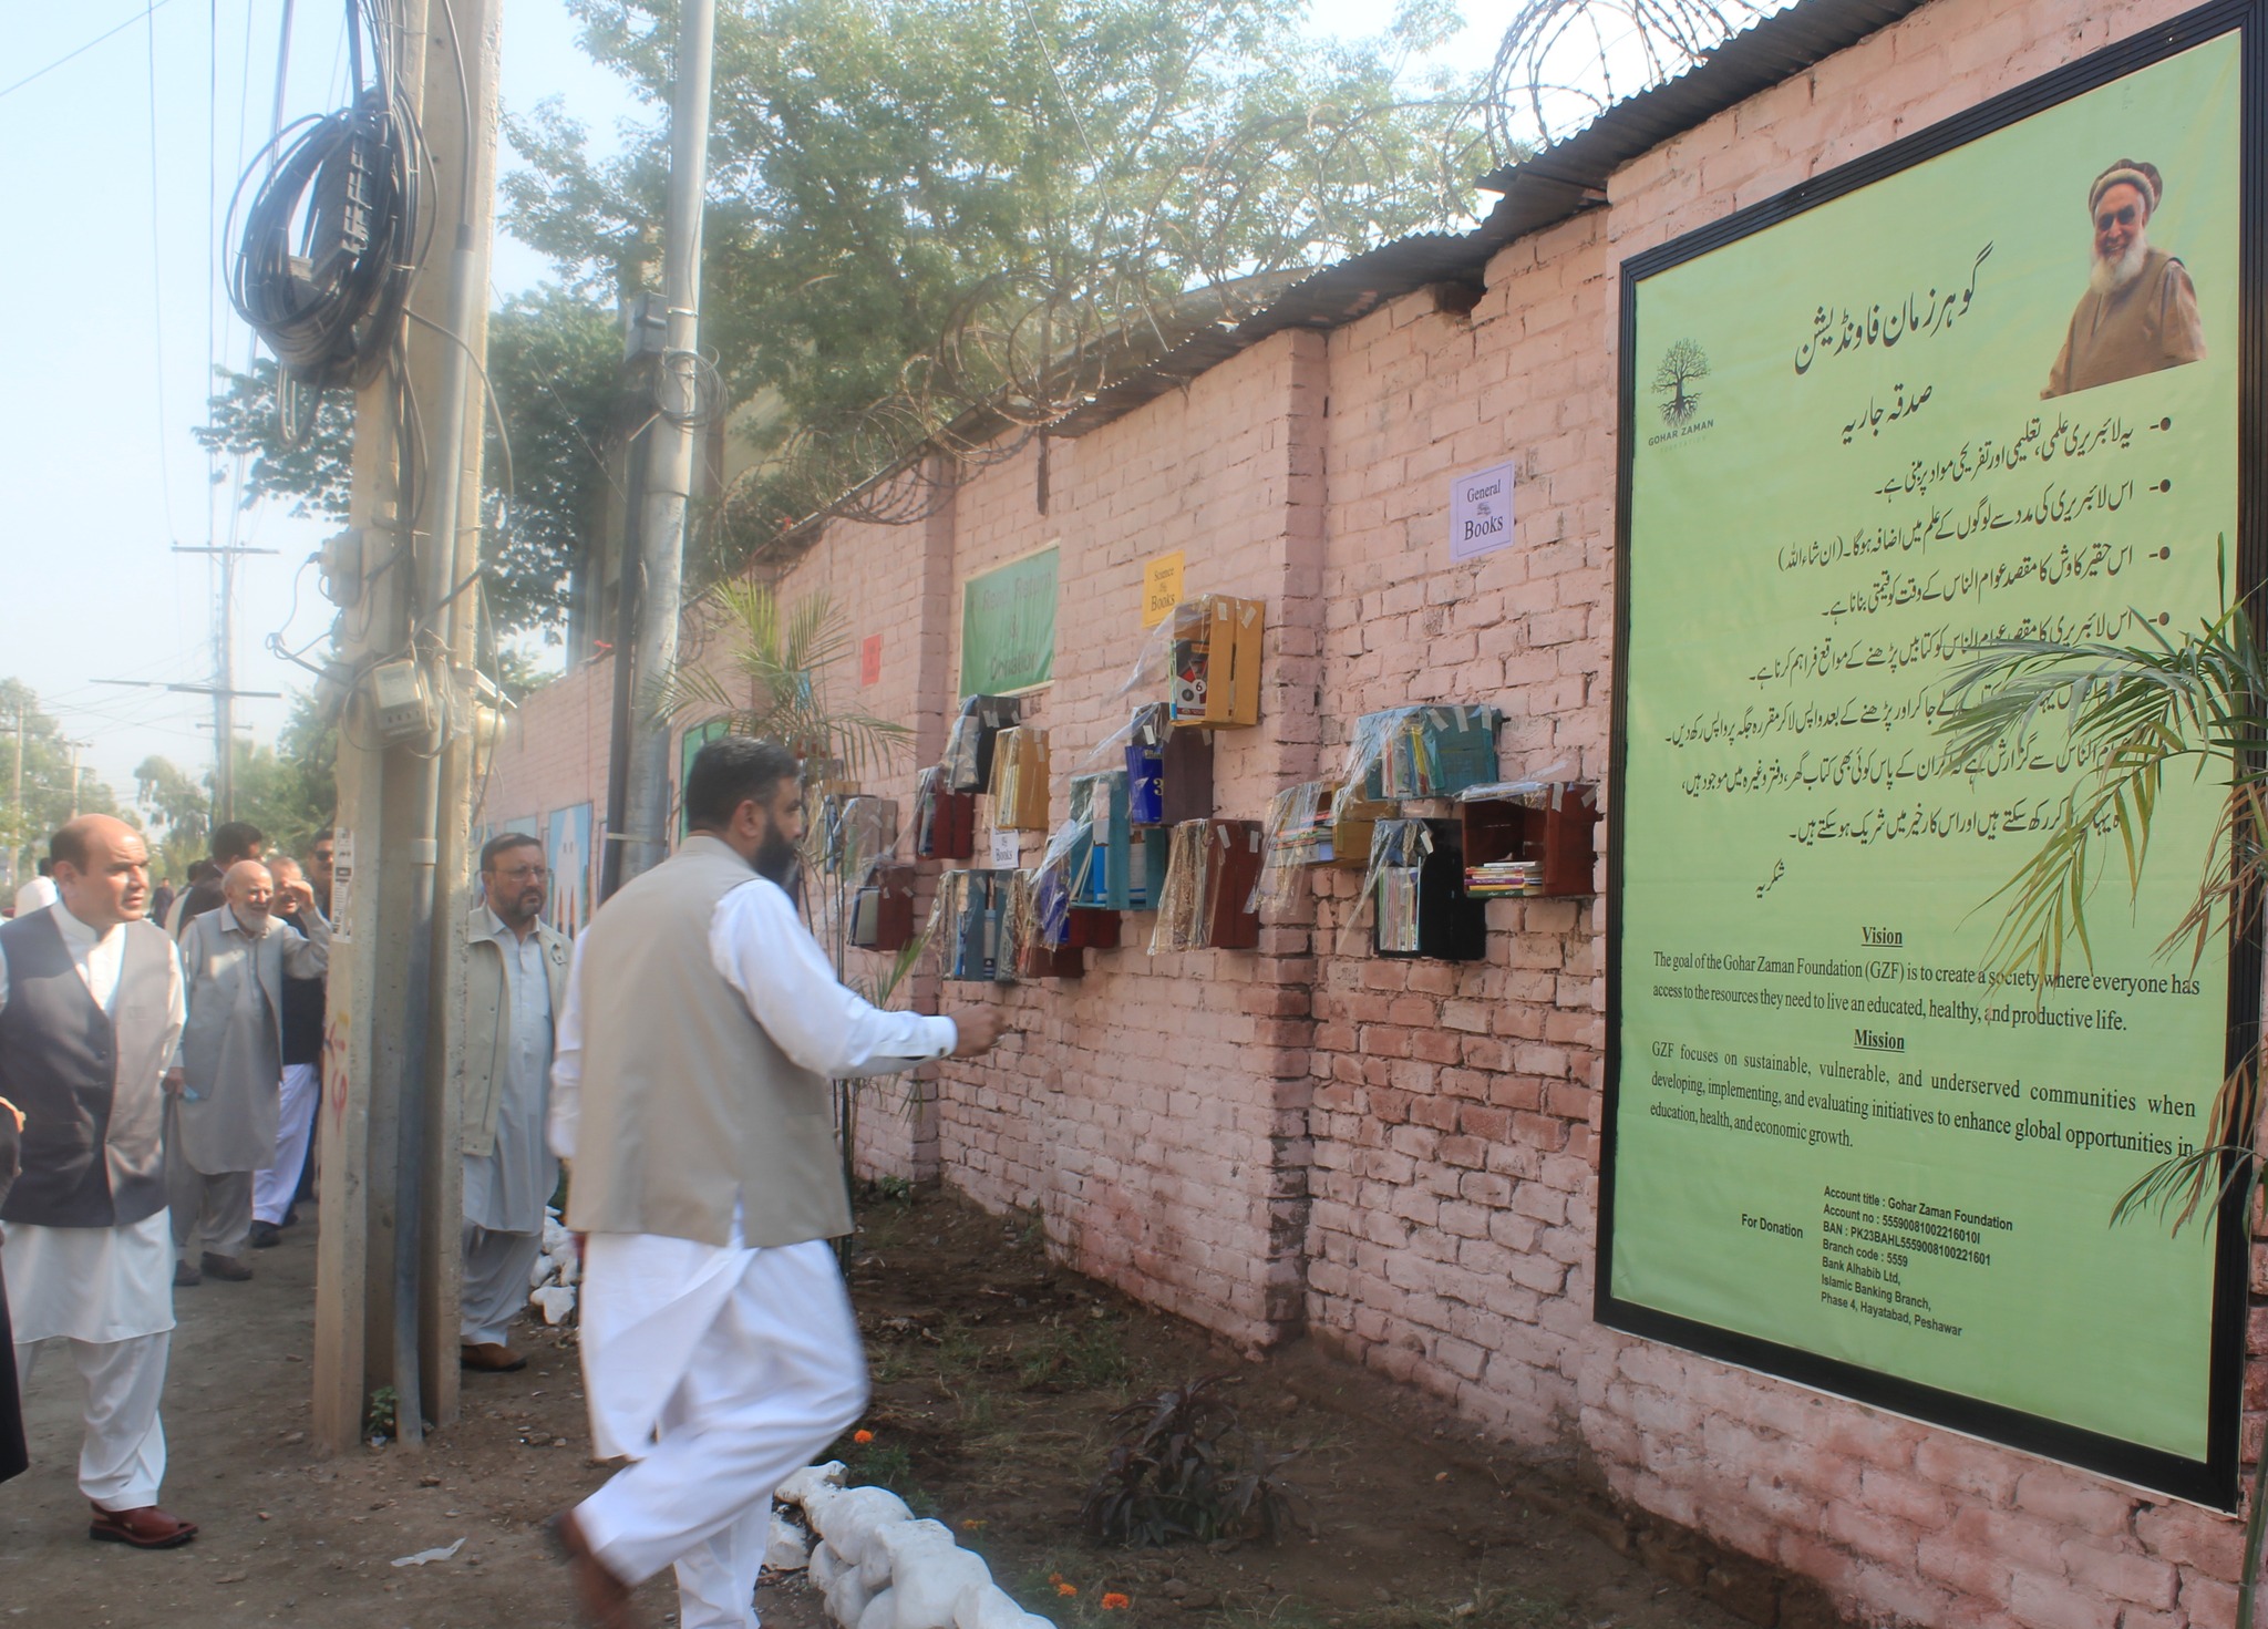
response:
{"label": "picture of white-bearded man in brown cap on green banner", "polygon": [[2093,265],[2041,397],[2204,358],[2204,324],[2189,270],[2150,245],[2150,218],[2164,195],[2157,166],[2141,159],[2121,159],[2087,188]]}

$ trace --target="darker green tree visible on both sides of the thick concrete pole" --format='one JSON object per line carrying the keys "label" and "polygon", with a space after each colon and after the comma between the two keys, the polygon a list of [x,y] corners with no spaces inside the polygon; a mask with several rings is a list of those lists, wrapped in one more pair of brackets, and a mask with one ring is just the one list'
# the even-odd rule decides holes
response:
{"label": "darker green tree visible on both sides of the thick concrete pole", "polygon": [[[245,458],[245,504],[279,499],[293,515],[347,524],[354,481],[354,404],[329,393],[306,442],[277,429],[274,363],[220,370],[222,390],[197,440]],[[621,427],[621,338],[610,304],[567,288],[515,295],[488,320],[483,479],[483,604],[497,638],[540,633],[558,642],[569,581],[599,533],[608,451]],[[499,436],[497,422],[503,433]]]}

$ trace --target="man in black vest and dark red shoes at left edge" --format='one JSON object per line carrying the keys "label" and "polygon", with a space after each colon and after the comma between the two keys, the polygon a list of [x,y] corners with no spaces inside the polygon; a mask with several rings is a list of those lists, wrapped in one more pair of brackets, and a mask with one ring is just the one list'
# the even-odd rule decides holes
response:
{"label": "man in black vest and dark red shoes at left edge", "polygon": [[0,926],[0,1098],[23,1112],[23,1175],[0,1202],[16,1377],[66,1341],[86,1384],[88,1538],[166,1550],[195,1522],[166,1477],[172,1225],[159,1082],[188,1003],[172,942],[143,921],[150,851],[109,814],[48,844],[57,905]]}

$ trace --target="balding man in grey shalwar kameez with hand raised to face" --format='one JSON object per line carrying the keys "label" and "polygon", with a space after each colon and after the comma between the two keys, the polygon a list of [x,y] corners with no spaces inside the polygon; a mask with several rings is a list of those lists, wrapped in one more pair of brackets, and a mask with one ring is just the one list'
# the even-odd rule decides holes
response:
{"label": "balding man in grey shalwar kameez with hand raised to face", "polygon": [[[322,978],[331,923],[306,883],[238,860],[220,878],[222,905],[181,935],[188,1028],[166,1075],[166,1187],[172,1198],[177,1289],[206,1277],[243,1282],[252,1234],[252,1173],[277,1162],[277,1082],[284,1078],[284,980]],[[299,932],[281,917],[297,914]]]}

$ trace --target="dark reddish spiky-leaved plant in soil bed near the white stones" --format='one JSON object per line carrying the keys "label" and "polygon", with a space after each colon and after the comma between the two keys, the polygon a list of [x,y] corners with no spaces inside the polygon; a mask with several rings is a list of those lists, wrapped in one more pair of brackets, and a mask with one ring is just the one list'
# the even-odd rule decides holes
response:
{"label": "dark reddish spiky-leaved plant in soil bed near the white stones", "polygon": [[1207,1375],[1168,1386],[1111,1416],[1118,1441],[1080,1506],[1091,1538],[1272,1543],[1297,1522],[1290,1484],[1279,1475],[1293,1454],[1268,1452],[1243,1427],[1222,1395],[1225,1379]]}

